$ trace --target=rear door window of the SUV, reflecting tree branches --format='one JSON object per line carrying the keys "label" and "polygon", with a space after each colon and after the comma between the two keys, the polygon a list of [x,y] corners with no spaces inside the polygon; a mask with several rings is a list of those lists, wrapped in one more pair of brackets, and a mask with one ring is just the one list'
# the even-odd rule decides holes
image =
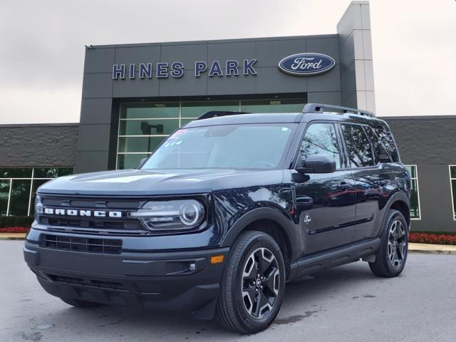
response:
{"label": "rear door window of the SUV, reflecting tree branches", "polygon": [[351,167],[375,165],[373,151],[361,125],[341,125]]}

